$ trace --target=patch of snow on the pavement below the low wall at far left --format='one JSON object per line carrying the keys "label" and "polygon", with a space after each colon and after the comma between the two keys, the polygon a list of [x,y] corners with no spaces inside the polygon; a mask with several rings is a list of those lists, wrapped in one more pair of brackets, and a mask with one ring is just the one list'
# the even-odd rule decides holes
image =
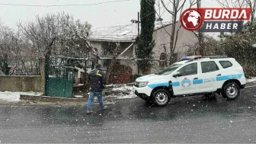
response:
{"label": "patch of snow on the pavement below the low wall at far left", "polygon": [[38,92],[11,92],[11,91],[0,91],[0,101],[20,101],[20,94],[27,95],[40,95]]}

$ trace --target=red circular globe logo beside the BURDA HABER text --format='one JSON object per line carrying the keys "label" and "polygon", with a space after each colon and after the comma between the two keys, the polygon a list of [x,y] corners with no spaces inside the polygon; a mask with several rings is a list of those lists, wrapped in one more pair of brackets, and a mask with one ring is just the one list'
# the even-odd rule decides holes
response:
{"label": "red circular globe logo beside the BURDA HABER text", "polygon": [[197,9],[188,8],[182,12],[180,18],[181,26],[185,30],[197,31],[203,25],[203,18]]}

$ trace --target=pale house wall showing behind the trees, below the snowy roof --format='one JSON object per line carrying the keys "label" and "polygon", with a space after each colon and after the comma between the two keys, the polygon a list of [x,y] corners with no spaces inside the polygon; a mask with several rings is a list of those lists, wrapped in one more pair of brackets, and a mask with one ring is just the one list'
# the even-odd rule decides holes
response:
{"label": "pale house wall showing behind the trees, below the snowy roof", "polygon": [[[180,23],[178,22],[176,24],[176,30],[180,27]],[[155,47],[153,48],[152,52],[154,53],[153,56],[155,59],[160,60],[161,53],[166,53],[168,56],[168,59],[170,57],[170,35],[171,34],[171,28],[172,25],[168,25],[166,27],[160,28],[158,30],[155,30],[153,33],[153,39],[155,40]],[[166,32],[167,31],[167,32]],[[176,36],[176,35],[175,35]],[[187,50],[189,47],[187,45],[192,45],[194,43],[197,43],[197,37],[190,31],[184,30],[183,27],[179,30],[178,33],[178,41],[176,44],[176,49],[174,50],[174,53],[178,53],[178,59],[181,59],[182,56],[187,55]],[[114,50],[116,47],[116,43],[114,42],[94,42],[91,41],[91,44],[98,49],[98,52],[101,56],[105,57],[111,57],[113,56],[113,53],[104,53],[104,51],[108,48]],[[126,49],[126,47],[130,46],[131,43],[120,43],[121,51]],[[165,49],[164,46],[165,44]],[[127,50],[125,53],[123,53],[122,57],[136,57],[135,56],[135,50],[137,48],[137,43],[133,43],[133,47],[130,47],[129,50]],[[101,65],[103,65],[103,60],[100,60]],[[136,65],[136,62],[134,60],[120,60],[120,64],[130,66],[133,69],[133,75],[138,74],[138,67]],[[158,61],[153,62],[153,66],[151,69],[151,72],[149,73],[155,73],[160,70],[164,69],[164,67],[159,66]],[[141,71],[140,71],[141,72]],[[142,73],[140,73],[142,74]]]}

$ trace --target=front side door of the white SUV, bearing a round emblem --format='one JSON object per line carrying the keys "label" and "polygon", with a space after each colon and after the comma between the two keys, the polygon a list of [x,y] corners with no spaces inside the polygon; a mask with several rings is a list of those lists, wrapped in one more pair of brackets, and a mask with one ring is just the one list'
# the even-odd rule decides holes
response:
{"label": "front side door of the white SUV, bearing a round emblem", "polygon": [[[171,75],[174,95],[193,94],[200,92],[200,85],[197,85],[198,66],[197,62],[190,63],[179,69],[178,76]],[[174,72],[174,73],[177,73]]]}

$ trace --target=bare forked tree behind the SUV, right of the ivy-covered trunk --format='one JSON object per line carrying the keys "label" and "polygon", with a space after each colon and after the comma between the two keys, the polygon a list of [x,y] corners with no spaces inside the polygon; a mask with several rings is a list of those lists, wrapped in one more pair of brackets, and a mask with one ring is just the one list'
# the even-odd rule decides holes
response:
{"label": "bare forked tree behind the SUV, right of the ivy-covered trunk", "polygon": [[[179,30],[181,29],[181,25],[177,28],[177,20],[179,16],[181,15],[185,3],[188,2],[187,0],[173,0],[170,1],[168,4],[166,4],[163,0],[161,0],[162,6],[165,8],[166,11],[168,11],[169,14],[171,14],[172,20],[171,20],[171,33],[168,33],[167,30],[165,30],[168,35],[170,36],[170,63],[174,62],[173,54],[176,49],[176,44],[178,41],[178,34]],[[197,0],[189,0],[190,7],[197,4]],[[171,5],[171,8],[168,8],[168,5]],[[158,7],[160,7],[160,4],[158,4]],[[158,14],[158,17],[161,18],[161,14],[156,11],[156,14]],[[165,27],[164,27],[165,29]]]}

